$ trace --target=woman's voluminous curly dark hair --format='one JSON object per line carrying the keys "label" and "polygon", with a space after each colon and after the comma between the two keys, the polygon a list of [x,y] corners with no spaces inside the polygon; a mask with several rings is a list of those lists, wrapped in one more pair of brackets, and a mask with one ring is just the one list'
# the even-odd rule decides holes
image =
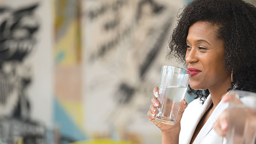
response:
{"label": "woman's voluminous curly dark hair", "polygon": [[[185,62],[188,29],[196,21],[219,26],[216,36],[224,41],[226,71],[233,71],[231,89],[256,92],[256,8],[242,0],[194,0],[178,16],[167,56]],[[186,65],[186,64],[185,64]],[[189,89],[188,93],[204,100],[209,90]]]}

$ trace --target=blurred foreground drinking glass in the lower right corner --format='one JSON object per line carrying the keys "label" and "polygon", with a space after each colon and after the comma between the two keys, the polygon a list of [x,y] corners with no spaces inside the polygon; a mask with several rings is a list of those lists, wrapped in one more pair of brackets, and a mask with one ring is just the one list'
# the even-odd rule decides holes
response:
{"label": "blurred foreground drinking glass in the lower right corner", "polygon": [[228,144],[255,144],[256,139],[256,93],[230,92],[228,106]]}

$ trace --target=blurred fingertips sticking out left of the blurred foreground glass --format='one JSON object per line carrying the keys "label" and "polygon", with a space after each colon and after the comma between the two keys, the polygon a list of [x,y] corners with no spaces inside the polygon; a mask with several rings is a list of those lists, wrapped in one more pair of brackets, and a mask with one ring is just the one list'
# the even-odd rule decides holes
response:
{"label": "blurred fingertips sticking out left of the blurred foreground glass", "polygon": [[228,129],[227,109],[220,114],[215,124],[213,125],[213,128],[220,136],[226,136]]}

